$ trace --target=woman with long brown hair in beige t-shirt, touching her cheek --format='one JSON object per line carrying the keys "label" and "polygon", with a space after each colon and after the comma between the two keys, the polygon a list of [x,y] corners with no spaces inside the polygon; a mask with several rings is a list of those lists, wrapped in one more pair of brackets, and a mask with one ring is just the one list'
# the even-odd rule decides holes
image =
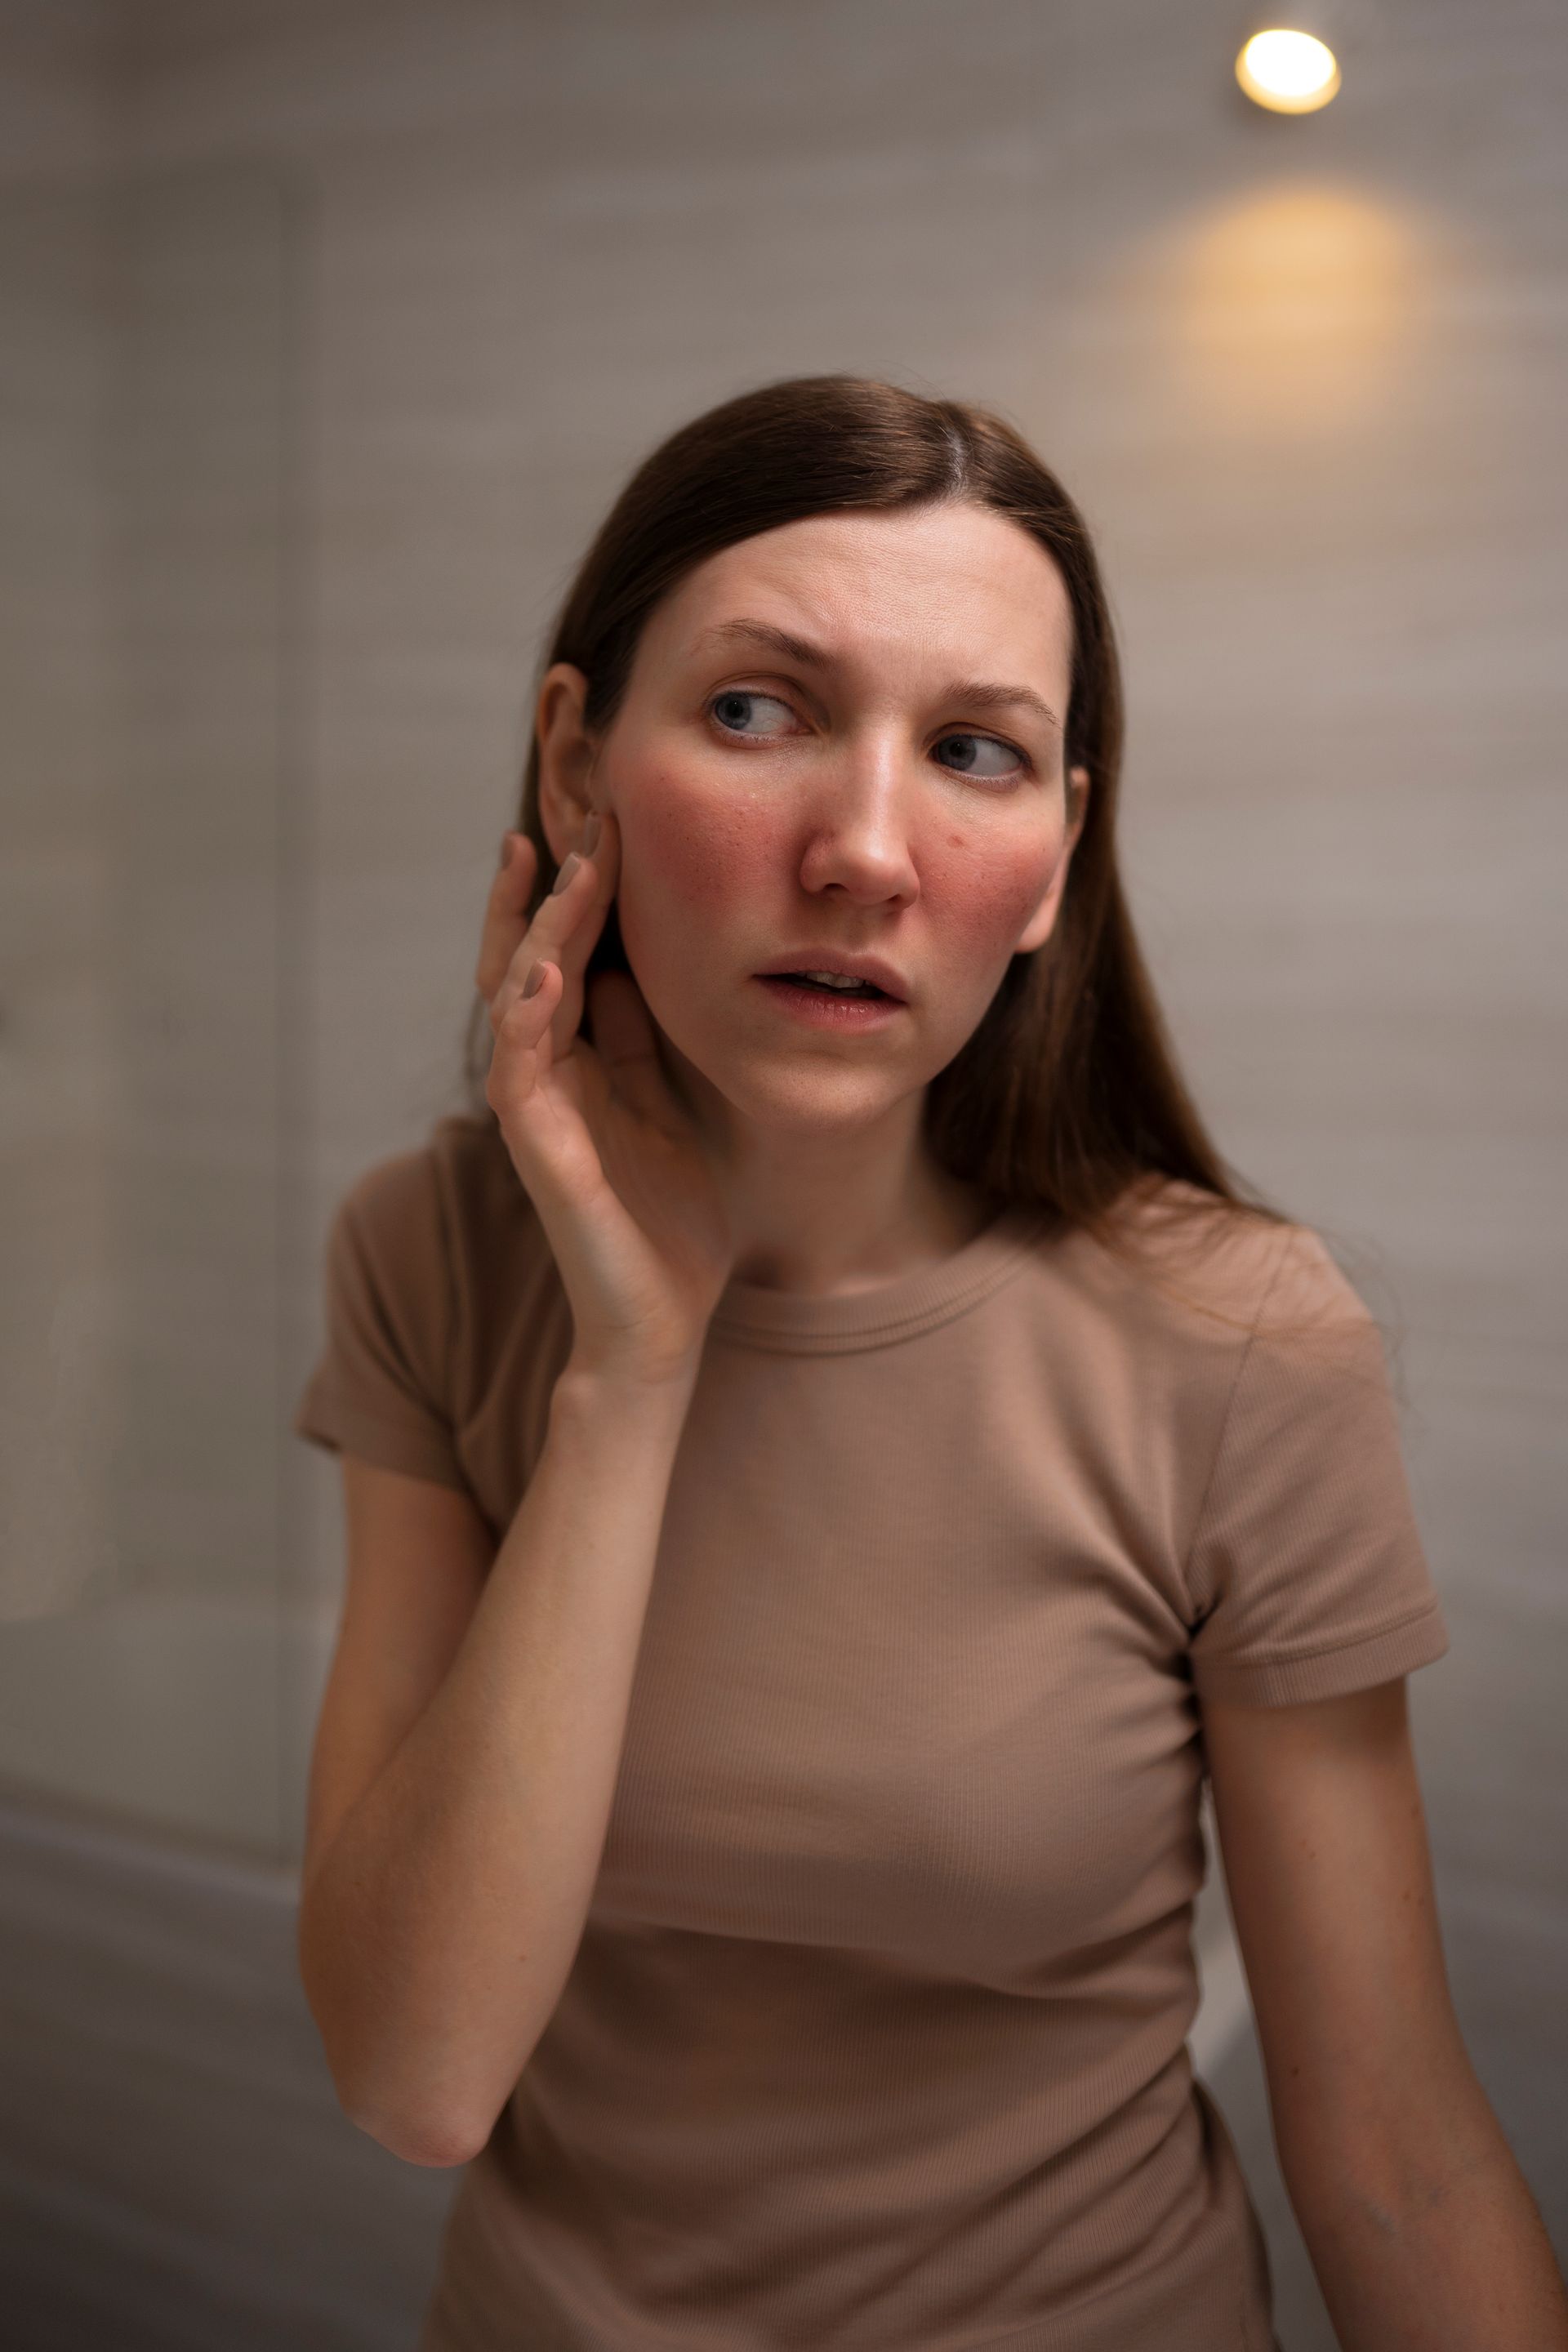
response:
{"label": "woman with long brown hair in beige t-shirt, touching her cheek", "polygon": [[1568,2345],[1443,1978],[1380,1334],[1182,1091],[1119,750],[1084,522],[961,402],[731,400],[567,597],[489,1073],[341,1204],[296,1416],[301,1971],[346,2112],[465,2164],[423,2352],[1269,2347],[1206,1771],[1342,2343]]}

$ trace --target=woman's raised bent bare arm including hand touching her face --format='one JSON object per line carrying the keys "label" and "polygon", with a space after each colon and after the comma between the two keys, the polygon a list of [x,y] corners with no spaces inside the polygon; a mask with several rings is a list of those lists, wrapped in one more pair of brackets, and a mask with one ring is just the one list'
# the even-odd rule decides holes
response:
{"label": "woman's raised bent bare arm including hand touching her face", "polygon": [[[557,663],[548,684],[585,680]],[[670,1470],[733,1261],[630,971],[597,976],[595,1040],[578,1035],[621,828],[562,807],[555,830],[583,847],[534,913],[536,851],[510,835],[475,981],[484,1091],[571,1305],[571,1359],[489,1578],[463,1496],[371,1486],[381,1524],[350,1526],[353,1635],[324,1745],[317,1731],[334,1785],[313,1797],[299,1971],[343,2107],[414,2164],[484,2143],[571,1973]]]}

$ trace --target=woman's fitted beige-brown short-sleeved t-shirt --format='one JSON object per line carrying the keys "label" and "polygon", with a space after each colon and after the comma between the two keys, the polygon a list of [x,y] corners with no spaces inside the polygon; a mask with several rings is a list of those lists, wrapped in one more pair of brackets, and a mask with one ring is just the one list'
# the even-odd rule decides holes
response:
{"label": "woman's fitted beige-brown short-sleeved t-shirt", "polygon": [[[1194,1197],[1131,1214],[1166,1249]],[[1185,2042],[1201,1700],[1448,1635],[1324,1242],[1237,1214],[1171,1268],[1239,1329],[1032,1211],[872,1291],[731,1282],[588,1926],[423,2352],[1269,2352]],[[294,1428],[501,1536],[569,1348],[505,1145],[442,1120],[339,1209]]]}

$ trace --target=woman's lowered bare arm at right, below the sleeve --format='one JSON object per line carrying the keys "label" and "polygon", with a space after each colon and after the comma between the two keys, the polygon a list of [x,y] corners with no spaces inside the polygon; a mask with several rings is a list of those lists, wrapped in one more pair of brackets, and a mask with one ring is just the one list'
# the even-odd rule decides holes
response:
{"label": "woman's lowered bare arm at right, below the sleeve", "polygon": [[1345,2352],[1568,2352],[1448,1990],[1403,1675],[1204,1703],[1281,2173]]}

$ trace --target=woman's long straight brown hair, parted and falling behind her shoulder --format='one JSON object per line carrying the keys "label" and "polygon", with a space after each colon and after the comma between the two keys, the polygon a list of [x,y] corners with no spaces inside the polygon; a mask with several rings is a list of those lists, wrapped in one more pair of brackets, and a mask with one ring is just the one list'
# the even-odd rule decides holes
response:
{"label": "woman's long straight brown hair, parted and falling behind her shoulder", "polygon": [[[1175,1068],[1117,870],[1124,703],[1100,567],[1079,508],[1001,416],[851,374],[788,376],[696,416],[642,461],[599,524],[541,654],[531,708],[545,670],[569,661],[588,677],[585,727],[609,729],[649,614],[719,548],[806,515],[945,499],[1006,515],[1067,586],[1065,764],[1088,769],[1088,804],[1051,938],[1013,957],[976,1033],[926,1087],[929,1148],[997,1207],[1048,1209],[1112,1249],[1126,1244],[1114,1211],[1128,1188],[1159,1190],[1164,1178],[1201,1195],[1185,1209],[1293,1223],[1227,1167]],[[534,913],[557,873],[538,816],[538,734],[517,830],[538,856]],[[614,908],[588,962],[588,974],[604,969],[630,969]],[[494,1120],[489,1044],[475,1000],[463,1077],[477,1120]]]}

